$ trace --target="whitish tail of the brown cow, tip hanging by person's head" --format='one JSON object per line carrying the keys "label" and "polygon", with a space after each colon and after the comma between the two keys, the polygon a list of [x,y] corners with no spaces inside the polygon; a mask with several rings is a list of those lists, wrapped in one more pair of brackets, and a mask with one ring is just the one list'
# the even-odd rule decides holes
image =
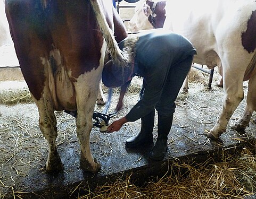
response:
{"label": "whitish tail of the brown cow, tip hanging by person's head", "polygon": [[[105,1],[105,0],[103,0]],[[90,4],[93,7],[93,11],[96,15],[96,20],[101,28],[103,37],[106,40],[106,43],[109,48],[110,56],[113,59],[113,62],[120,66],[127,66],[129,61],[129,56],[127,53],[122,51],[117,41],[114,39],[113,31],[110,29],[108,22],[106,21],[106,18],[103,14],[102,7],[100,3],[98,3],[98,0],[90,0]]]}

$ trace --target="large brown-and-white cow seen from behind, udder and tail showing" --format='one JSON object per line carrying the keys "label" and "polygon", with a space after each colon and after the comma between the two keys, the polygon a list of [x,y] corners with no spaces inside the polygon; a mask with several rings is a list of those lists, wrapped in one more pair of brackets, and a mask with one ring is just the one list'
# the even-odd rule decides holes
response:
{"label": "large brown-and-white cow seen from behind, udder and tail showing", "polygon": [[63,168],[55,144],[54,110],[77,110],[80,168],[97,172],[100,163],[93,158],[89,139],[106,51],[120,67],[129,61],[117,44],[127,33],[112,1],[6,0],[5,11],[21,71],[38,108],[39,127],[48,141],[46,171]]}

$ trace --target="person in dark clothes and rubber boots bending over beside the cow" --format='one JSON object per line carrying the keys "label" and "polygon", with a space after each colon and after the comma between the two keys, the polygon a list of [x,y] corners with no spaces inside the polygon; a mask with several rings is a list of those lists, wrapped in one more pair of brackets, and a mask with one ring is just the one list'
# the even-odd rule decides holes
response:
{"label": "person in dark clothes and rubber boots bending over beside the cow", "polygon": [[175,112],[175,100],[188,74],[196,49],[180,34],[153,29],[131,34],[119,43],[130,56],[126,67],[112,60],[104,65],[102,81],[110,88],[119,87],[134,76],[143,77],[139,101],[129,113],[115,120],[107,132],[119,131],[123,124],[141,118],[141,132],[126,140],[126,148],[153,144],[155,109],[158,113],[158,138],[150,153],[153,160],[162,160],[167,152],[168,134]]}

